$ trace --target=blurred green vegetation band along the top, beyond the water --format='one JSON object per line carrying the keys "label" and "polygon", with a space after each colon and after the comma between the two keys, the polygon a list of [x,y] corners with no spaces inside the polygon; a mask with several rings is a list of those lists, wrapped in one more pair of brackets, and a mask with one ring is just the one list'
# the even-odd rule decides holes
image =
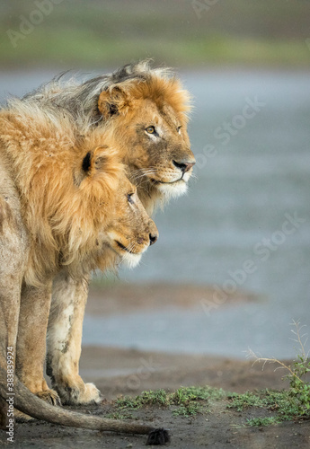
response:
{"label": "blurred green vegetation band along the top, beyond the water", "polygon": [[191,0],[63,0],[38,13],[40,2],[0,4],[2,66],[94,68],[144,57],[172,66],[310,62],[306,0],[221,0],[200,13]]}

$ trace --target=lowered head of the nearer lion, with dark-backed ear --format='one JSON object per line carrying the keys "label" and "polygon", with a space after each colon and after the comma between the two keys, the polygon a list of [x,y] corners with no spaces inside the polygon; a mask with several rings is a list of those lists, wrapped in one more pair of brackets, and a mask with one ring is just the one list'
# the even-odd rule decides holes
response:
{"label": "lowered head of the nearer lion, with dark-backed ear", "polygon": [[[96,267],[106,269],[110,261],[111,266],[121,263],[133,268],[156,242],[158,232],[137,197],[137,188],[128,180],[115,145],[108,142],[109,145],[99,145],[87,152],[74,172],[79,214],[85,225],[82,238],[93,228],[88,245],[82,246],[86,254],[91,254]],[[77,217],[81,232],[81,216]],[[107,257],[111,252],[112,256]]]}

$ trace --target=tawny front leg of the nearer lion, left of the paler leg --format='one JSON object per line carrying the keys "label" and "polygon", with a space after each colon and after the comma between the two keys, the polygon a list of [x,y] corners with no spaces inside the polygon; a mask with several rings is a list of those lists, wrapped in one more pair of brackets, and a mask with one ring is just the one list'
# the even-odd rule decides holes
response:
{"label": "tawny front leg of the nearer lion, left of the paler leg", "polygon": [[50,298],[51,282],[41,288],[22,286],[16,374],[31,392],[53,405],[59,405],[57,392],[49,389],[43,374]]}

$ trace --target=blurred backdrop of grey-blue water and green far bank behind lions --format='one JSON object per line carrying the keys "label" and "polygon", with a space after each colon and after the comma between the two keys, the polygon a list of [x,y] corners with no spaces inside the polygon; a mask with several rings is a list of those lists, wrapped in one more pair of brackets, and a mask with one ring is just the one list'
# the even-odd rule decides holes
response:
{"label": "blurred backdrop of grey-blue water and green far bank behind lions", "polygon": [[293,357],[290,323],[310,323],[310,3],[0,4],[2,102],[63,70],[92,76],[146,57],[193,96],[195,179],[155,216],[160,238],[141,265],[105,280],[146,298],[163,286],[158,303],[108,318],[90,309],[84,343]]}

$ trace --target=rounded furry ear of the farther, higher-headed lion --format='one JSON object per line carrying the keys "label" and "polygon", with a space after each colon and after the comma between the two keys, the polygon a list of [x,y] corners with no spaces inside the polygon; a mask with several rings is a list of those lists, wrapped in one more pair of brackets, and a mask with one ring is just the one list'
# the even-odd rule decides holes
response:
{"label": "rounded furry ear of the farther, higher-headed lion", "polygon": [[113,87],[109,91],[103,91],[99,95],[98,110],[104,119],[109,119],[112,115],[124,112],[129,106],[129,97],[120,87]]}

